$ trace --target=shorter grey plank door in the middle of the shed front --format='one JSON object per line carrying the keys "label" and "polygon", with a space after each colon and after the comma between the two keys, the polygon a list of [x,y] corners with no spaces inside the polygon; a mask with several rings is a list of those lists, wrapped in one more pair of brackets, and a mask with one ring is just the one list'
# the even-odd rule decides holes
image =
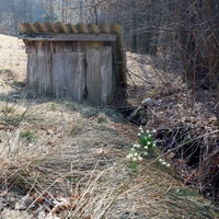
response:
{"label": "shorter grey plank door in the middle of the shed front", "polygon": [[57,97],[83,101],[85,91],[83,53],[53,54],[53,89]]}

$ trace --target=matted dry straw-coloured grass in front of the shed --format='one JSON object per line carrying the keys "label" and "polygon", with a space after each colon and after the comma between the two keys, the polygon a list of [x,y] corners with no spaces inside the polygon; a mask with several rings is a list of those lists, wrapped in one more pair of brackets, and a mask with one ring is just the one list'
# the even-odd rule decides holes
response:
{"label": "matted dry straw-coloured grass in front of the shed", "polygon": [[[209,201],[155,160],[131,172],[125,157],[137,128],[120,123],[113,110],[37,101],[14,104],[10,123],[2,122],[13,127],[1,129],[1,186],[10,196],[81,194],[72,218],[217,218]],[[20,138],[23,130],[36,139]]]}

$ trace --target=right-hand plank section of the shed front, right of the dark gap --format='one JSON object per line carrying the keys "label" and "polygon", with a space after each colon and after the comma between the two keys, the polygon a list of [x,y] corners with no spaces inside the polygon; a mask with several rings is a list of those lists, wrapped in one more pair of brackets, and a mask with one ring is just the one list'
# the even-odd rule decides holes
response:
{"label": "right-hand plank section of the shed front, right of the dark gap", "polygon": [[113,100],[115,80],[113,74],[112,46],[103,42],[89,42],[87,47],[88,101],[106,104]]}

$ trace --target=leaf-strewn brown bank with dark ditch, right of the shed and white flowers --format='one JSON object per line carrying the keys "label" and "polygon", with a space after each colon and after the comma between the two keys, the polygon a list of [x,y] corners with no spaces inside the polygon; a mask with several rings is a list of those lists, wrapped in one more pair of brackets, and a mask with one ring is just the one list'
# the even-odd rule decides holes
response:
{"label": "leaf-strewn brown bank with dark ditch, right of the shed and white flowers", "polygon": [[150,100],[141,114],[147,112],[147,127],[158,130],[163,152],[170,153],[186,184],[199,187],[203,195],[218,203],[216,91],[200,87],[195,92],[186,90],[180,66],[175,68],[166,60],[136,54],[127,54],[127,57],[128,68],[134,71],[129,71],[132,79],[129,102],[137,100],[139,104],[141,100]]}

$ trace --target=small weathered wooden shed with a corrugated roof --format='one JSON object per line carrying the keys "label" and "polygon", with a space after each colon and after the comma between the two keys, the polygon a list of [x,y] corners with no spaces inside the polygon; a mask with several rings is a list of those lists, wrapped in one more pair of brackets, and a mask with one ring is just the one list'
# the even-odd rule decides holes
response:
{"label": "small weathered wooden shed with a corrugated roof", "polygon": [[119,25],[19,23],[27,48],[27,83],[70,101],[108,104],[126,87]]}

